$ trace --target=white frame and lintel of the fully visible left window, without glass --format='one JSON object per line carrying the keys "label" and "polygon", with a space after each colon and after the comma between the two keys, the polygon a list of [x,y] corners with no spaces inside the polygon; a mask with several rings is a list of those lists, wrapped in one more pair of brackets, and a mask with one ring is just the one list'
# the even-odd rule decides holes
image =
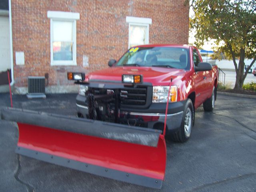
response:
{"label": "white frame and lintel of the fully visible left window, without glass", "polygon": [[[76,20],[80,19],[79,13],[48,11],[47,17],[50,18],[50,49],[51,49],[51,65],[77,65],[76,64]],[[73,60],[53,60],[53,22],[54,21],[69,21],[73,22]]]}

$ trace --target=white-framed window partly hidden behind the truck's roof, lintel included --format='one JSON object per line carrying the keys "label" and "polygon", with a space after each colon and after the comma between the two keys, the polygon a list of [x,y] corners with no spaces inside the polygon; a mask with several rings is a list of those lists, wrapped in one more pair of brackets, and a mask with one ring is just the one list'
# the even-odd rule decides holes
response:
{"label": "white-framed window partly hidden behind the truck's roof, lintel included", "polygon": [[152,24],[152,19],[127,16],[126,22],[129,23],[128,48],[149,43],[149,24]]}

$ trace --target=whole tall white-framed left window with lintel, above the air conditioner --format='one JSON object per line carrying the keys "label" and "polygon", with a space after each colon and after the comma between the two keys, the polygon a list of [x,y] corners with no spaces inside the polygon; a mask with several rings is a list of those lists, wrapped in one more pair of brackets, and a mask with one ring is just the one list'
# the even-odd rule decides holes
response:
{"label": "whole tall white-framed left window with lintel, above the air conditioner", "polygon": [[79,13],[48,11],[51,65],[76,65],[76,20]]}

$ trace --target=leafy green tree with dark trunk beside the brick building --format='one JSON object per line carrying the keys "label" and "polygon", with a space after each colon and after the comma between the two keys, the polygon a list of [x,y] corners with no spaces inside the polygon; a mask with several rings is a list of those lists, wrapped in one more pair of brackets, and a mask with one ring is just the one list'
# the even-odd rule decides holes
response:
{"label": "leafy green tree with dark trunk beside the brick building", "polygon": [[[256,60],[255,0],[192,0],[196,44],[214,39],[214,50],[232,59],[236,69],[234,89],[242,89],[244,79]],[[237,64],[236,58],[239,59]],[[253,59],[244,72],[244,59]]]}

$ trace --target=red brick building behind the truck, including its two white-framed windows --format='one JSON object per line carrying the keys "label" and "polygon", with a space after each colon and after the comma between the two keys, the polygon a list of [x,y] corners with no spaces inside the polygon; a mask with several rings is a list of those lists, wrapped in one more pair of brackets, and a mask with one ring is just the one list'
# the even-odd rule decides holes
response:
{"label": "red brick building behind the truck, including its two white-framed windows", "polygon": [[108,67],[136,44],[188,44],[184,0],[11,0],[14,85],[48,76],[46,92],[77,91],[67,71]]}

